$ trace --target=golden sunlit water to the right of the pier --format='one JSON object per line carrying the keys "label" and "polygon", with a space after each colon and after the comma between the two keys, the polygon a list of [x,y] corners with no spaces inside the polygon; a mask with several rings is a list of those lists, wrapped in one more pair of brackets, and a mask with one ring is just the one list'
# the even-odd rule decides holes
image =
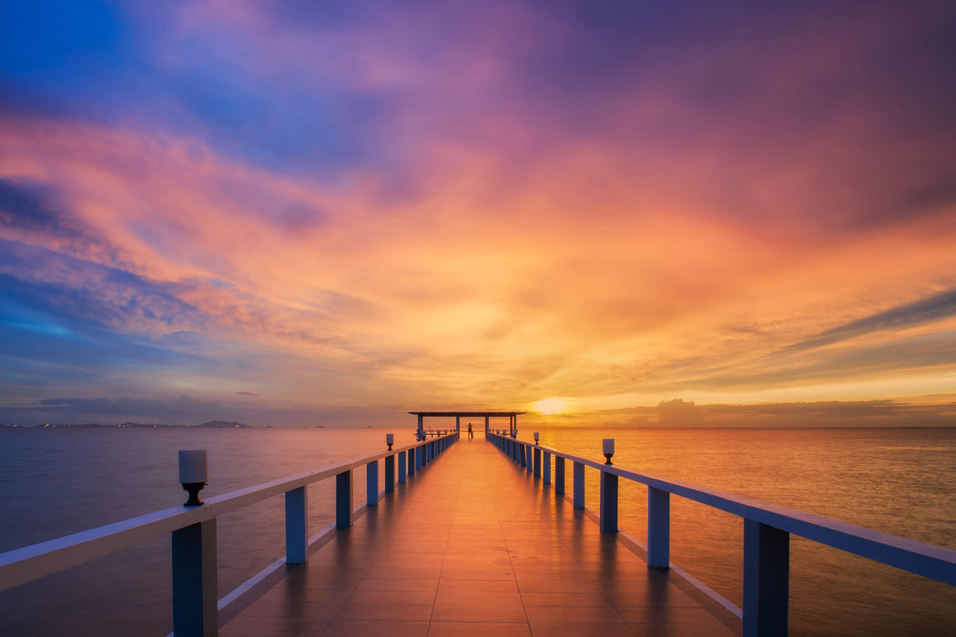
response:
{"label": "golden sunlit water to the right of the pier", "polygon": [[[592,459],[615,437],[622,467],[956,548],[956,430],[537,430]],[[597,509],[597,471],[585,483]],[[619,526],[641,541],[646,498],[621,481]],[[793,634],[956,633],[956,587],[797,537],[791,554]],[[671,561],[741,604],[741,519],[672,498]]]}

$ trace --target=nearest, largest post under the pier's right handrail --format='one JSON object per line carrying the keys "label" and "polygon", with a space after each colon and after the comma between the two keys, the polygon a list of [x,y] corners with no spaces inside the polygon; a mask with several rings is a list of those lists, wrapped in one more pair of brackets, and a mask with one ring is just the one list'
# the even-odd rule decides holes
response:
{"label": "nearest, largest post under the pier's right handrail", "polygon": [[744,519],[744,635],[787,634],[790,534]]}

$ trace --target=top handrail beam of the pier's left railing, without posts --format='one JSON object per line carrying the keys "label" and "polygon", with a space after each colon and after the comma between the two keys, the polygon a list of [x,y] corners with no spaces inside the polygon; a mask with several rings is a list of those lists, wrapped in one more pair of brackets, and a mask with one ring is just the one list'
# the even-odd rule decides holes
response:
{"label": "top handrail beam of the pier's left railing, without posts", "polygon": [[116,553],[143,541],[153,540],[190,524],[212,520],[230,511],[278,496],[292,489],[333,478],[345,471],[367,465],[369,462],[422,447],[436,439],[449,437],[455,433],[206,498],[202,506],[188,508],[182,505],[173,506],[54,540],[14,548],[0,553],[0,591]]}

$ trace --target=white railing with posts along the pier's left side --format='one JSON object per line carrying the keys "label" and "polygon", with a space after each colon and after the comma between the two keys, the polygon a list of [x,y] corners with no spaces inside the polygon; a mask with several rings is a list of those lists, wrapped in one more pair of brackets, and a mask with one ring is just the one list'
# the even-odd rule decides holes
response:
{"label": "white railing with posts along the pier's left side", "polygon": [[[172,535],[173,631],[178,637],[214,635],[218,629],[216,600],[216,519],[263,499],[285,494],[286,563],[308,559],[306,488],[336,478],[336,528],[352,526],[355,516],[353,472],[366,468],[366,505],[380,493],[395,490],[458,440],[457,432],[399,449],[360,457],[331,467],[257,484],[206,499],[201,506],[174,506],[138,518],[0,553],[0,591],[116,553],[143,541]],[[379,490],[379,460],[384,460],[384,490]],[[230,597],[230,596],[227,596]],[[225,598],[224,598],[225,599]]]}

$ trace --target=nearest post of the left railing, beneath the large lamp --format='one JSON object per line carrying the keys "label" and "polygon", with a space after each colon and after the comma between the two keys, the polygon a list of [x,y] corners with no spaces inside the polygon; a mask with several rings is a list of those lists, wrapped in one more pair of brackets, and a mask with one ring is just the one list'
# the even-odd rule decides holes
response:
{"label": "nearest post of the left railing, beneath the large lamp", "polygon": [[216,520],[172,532],[173,632],[211,637],[219,632]]}

